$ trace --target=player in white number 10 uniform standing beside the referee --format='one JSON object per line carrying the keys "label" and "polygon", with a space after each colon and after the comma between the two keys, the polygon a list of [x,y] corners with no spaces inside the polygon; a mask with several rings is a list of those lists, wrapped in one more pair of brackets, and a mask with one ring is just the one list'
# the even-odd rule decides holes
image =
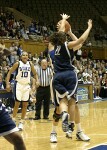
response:
{"label": "player in white number 10 uniform standing beside the referee", "polygon": [[27,52],[23,52],[21,55],[21,61],[16,62],[9,70],[6,79],[7,91],[10,91],[10,82],[9,82],[10,76],[15,71],[16,71],[16,101],[13,109],[13,120],[15,120],[15,117],[17,115],[20,102],[22,102],[22,114],[21,114],[21,120],[19,122],[18,128],[19,130],[23,130],[23,123],[26,115],[29,94],[30,94],[31,72],[33,73],[33,76],[36,79],[36,81],[38,80],[33,64],[28,61]]}

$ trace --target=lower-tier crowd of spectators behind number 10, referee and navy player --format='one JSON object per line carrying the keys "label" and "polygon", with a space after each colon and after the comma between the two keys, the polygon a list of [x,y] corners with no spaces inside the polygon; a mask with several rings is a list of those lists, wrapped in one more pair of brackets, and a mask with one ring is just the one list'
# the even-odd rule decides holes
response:
{"label": "lower-tier crowd of spectators behind number 10, referee and navy player", "polygon": [[[1,45],[5,46],[4,40],[1,40]],[[0,64],[0,77],[3,81],[5,81],[10,67],[20,59],[23,47],[18,42],[12,42],[9,50],[11,51],[11,55],[8,57],[3,56],[3,62]],[[39,66],[39,62],[43,58],[46,58],[50,64],[46,51],[41,52],[39,56],[29,53],[29,60],[33,62],[35,69]],[[101,87],[107,87],[107,61],[93,60],[92,58],[92,50],[87,52],[87,50],[82,51],[80,49],[75,54],[74,66],[78,73],[79,81],[81,80],[83,83],[93,83],[96,96],[99,96],[100,92],[98,91],[100,91]],[[2,87],[0,82],[0,89]]]}

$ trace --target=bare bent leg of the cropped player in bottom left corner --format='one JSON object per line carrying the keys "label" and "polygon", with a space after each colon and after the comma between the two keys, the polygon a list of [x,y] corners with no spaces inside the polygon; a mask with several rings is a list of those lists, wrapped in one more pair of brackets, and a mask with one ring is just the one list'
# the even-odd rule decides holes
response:
{"label": "bare bent leg of the cropped player in bottom left corner", "polygon": [[4,138],[14,145],[14,150],[26,150],[24,141],[18,132],[10,133],[4,136]]}

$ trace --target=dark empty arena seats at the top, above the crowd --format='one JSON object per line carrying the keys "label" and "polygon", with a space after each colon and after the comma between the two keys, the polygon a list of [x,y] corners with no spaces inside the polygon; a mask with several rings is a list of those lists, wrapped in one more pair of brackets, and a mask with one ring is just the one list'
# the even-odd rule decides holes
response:
{"label": "dark empty arena seats at the top, above the crowd", "polygon": [[100,29],[101,34],[105,33],[105,28],[100,23],[100,16],[107,15],[106,0],[30,0],[30,3],[29,0],[2,0],[0,4],[1,6],[14,7],[34,20],[47,24],[50,22],[56,24],[61,19],[60,14],[63,12],[67,13],[71,16],[69,22],[73,31],[84,31],[87,26],[87,20],[91,18],[94,22],[94,28],[88,40],[94,43],[94,46],[100,45],[102,47],[106,45],[106,41],[101,42],[93,39],[94,34],[97,32],[96,29]]}

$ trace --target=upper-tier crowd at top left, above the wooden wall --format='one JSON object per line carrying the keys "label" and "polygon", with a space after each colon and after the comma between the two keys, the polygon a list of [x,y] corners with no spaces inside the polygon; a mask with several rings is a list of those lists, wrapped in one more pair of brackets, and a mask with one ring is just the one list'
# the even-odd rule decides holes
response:
{"label": "upper-tier crowd at top left, above the wooden wall", "polygon": [[35,20],[31,21],[28,27],[25,26],[25,22],[20,19],[16,20],[12,12],[0,13],[0,37],[9,39],[32,39],[35,36],[42,36],[46,38],[53,31],[55,31],[55,25],[45,24],[42,22],[37,22]]}

